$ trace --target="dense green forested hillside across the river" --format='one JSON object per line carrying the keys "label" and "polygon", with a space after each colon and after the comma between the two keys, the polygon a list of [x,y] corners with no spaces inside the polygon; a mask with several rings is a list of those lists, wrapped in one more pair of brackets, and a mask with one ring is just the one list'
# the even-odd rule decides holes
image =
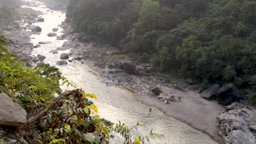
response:
{"label": "dense green forested hillside across the river", "polygon": [[236,86],[256,74],[256,1],[75,0],[67,17],[83,41],[140,53],[168,74]]}

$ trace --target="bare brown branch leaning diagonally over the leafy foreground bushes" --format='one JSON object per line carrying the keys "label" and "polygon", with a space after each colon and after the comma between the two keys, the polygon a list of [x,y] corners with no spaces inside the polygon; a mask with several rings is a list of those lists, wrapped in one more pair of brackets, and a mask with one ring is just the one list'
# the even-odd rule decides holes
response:
{"label": "bare brown branch leaning diagonally over the leafy foreground bushes", "polygon": [[53,103],[51,103],[43,111],[39,112],[36,116],[28,119],[26,125],[36,122],[38,119],[44,117],[49,110],[53,109],[53,107],[60,102],[61,99],[68,97],[69,95],[77,95],[79,92],[79,89],[73,89],[72,91],[69,91],[67,93],[62,93],[59,97],[53,99]]}

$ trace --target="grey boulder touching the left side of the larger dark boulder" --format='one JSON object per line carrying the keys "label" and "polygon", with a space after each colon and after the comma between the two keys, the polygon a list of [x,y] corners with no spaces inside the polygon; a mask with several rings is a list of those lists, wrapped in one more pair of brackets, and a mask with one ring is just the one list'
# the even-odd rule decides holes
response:
{"label": "grey boulder touching the left side of the larger dark boulder", "polygon": [[216,99],[217,91],[219,90],[220,86],[218,84],[214,84],[205,90],[202,91],[202,98],[207,100]]}

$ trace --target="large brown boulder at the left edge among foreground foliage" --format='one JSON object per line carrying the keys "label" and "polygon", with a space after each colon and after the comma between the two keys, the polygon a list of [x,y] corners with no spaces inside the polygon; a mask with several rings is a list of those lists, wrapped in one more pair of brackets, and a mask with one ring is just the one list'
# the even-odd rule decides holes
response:
{"label": "large brown boulder at the left edge among foreground foliage", "polygon": [[20,127],[27,122],[27,113],[11,100],[8,95],[0,94],[0,125]]}

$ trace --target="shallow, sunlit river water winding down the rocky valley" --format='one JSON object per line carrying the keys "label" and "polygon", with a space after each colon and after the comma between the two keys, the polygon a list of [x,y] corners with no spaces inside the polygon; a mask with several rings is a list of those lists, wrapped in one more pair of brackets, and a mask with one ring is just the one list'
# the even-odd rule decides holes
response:
{"label": "shallow, sunlit river water winding down the rocky valley", "polygon": [[[67,40],[56,40],[56,37],[48,37],[47,34],[52,32],[53,28],[59,28],[59,31],[56,33],[57,35],[61,35],[63,29],[58,25],[65,20],[66,15],[60,11],[46,8],[46,5],[41,2],[34,0],[24,1],[36,4],[32,6],[24,5],[23,7],[42,11],[43,15],[40,16],[45,19],[44,22],[33,23],[33,25],[40,26],[42,32],[40,34],[31,35],[31,38],[34,38],[31,39],[32,43],[36,45],[39,41],[52,42],[49,44],[41,44],[40,47],[33,50],[32,55],[44,55],[46,57],[44,60],[45,63],[59,68],[65,77],[76,83],[78,87],[82,87],[86,93],[96,94],[98,99],[92,99],[92,101],[97,105],[99,115],[101,115],[102,118],[106,118],[114,123],[121,121],[128,126],[135,125],[137,122],[147,124],[146,128],[135,131],[133,135],[145,136],[150,133],[151,129],[156,133],[165,135],[164,139],[150,139],[150,143],[216,143],[206,134],[201,133],[201,131],[195,130],[177,119],[165,116],[157,109],[153,108],[149,116],[149,106],[137,101],[134,95],[120,87],[106,86],[101,78],[95,76],[91,68],[86,64],[74,61],[72,63],[68,62],[67,65],[56,65],[56,62],[60,60],[60,53],[68,52],[69,50],[59,51],[57,54],[53,54],[49,51],[62,46]],[[115,138],[110,140],[110,142],[119,144],[123,143],[123,139],[121,139],[120,135],[115,135]]]}

